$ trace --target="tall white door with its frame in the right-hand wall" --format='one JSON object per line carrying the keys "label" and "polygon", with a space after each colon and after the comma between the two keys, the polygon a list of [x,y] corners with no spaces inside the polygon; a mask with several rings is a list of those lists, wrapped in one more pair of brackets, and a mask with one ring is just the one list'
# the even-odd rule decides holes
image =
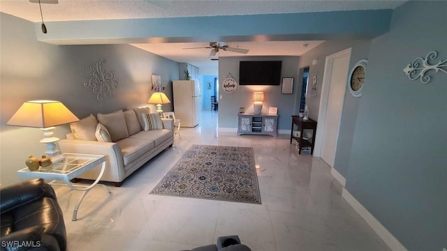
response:
{"label": "tall white door with its frame in the right-hand wall", "polygon": [[351,48],[326,56],[314,155],[334,167]]}

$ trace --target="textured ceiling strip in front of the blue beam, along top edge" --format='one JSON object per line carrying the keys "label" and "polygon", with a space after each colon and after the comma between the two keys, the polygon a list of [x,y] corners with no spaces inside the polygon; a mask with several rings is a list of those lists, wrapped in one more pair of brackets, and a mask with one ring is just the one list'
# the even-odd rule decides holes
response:
{"label": "textured ceiling strip in front of the blue beam, along top edge", "polygon": [[[45,1],[47,0],[41,0],[41,3],[43,17],[47,22],[151,17],[309,13],[336,10],[376,10],[393,9],[404,2],[372,0],[58,0],[59,3],[57,4],[48,4]],[[31,3],[28,0],[0,0],[0,9],[3,13],[8,13],[31,22],[39,22],[41,20],[38,3]]]}

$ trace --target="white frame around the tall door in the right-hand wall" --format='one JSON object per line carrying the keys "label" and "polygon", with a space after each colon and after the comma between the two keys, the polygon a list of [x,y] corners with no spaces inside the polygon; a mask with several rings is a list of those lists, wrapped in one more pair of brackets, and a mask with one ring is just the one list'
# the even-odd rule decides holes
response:
{"label": "white frame around the tall door in the right-hand wall", "polygon": [[[315,134],[315,149],[314,149],[314,157],[321,157],[321,147],[323,144],[323,134],[324,134],[324,126],[326,120],[326,112],[328,109],[328,98],[329,98],[329,87],[330,87],[330,79],[332,76],[332,65],[334,63],[334,59],[340,56],[349,56],[349,63],[351,63],[351,48],[346,50],[342,50],[341,52],[337,52],[335,54],[326,56],[325,65],[324,65],[324,74],[323,74],[323,84],[321,84],[321,98],[320,98],[320,107],[318,109],[318,123],[316,124],[316,134]],[[347,76],[346,76],[347,77]],[[344,92],[346,95],[346,91]],[[343,97],[344,99],[344,97]],[[343,101],[344,103],[344,101]],[[343,114],[343,107],[342,113]],[[337,141],[338,134],[340,128],[337,129]],[[336,144],[337,145],[337,144]],[[337,147],[335,147],[335,154],[337,154]]]}

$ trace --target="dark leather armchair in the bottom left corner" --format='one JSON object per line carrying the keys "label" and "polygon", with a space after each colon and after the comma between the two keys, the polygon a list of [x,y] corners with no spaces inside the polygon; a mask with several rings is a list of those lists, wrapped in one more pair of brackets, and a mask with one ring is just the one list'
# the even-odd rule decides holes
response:
{"label": "dark leather armchair in the bottom left corner", "polygon": [[53,188],[42,178],[0,190],[1,250],[66,250],[66,229]]}

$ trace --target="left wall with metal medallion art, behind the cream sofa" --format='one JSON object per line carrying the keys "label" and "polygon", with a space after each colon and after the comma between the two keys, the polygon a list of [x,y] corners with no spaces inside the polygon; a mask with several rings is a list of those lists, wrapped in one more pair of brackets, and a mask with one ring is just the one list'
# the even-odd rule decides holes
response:
{"label": "left wall with metal medallion art, behind the cream sofa", "polygon": [[[18,169],[29,155],[40,156],[45,145],[37,128],[6,126],[6,122],[27,100],[60,100],[80,119],[98,112],[147,105],[152,74],[161,75],[161,84],[172,98],[172,80],[178,79],[179,66],[161,56],[131,45],[50,45],[36,40],[34,23],[0,13],[1,23],[1,123],[0,181],[19,181]],[[105,58],[105,68],[115,70],[118,89],[103,102],[83,86],[82,70],[91,61]],[[172,111],[172,105],[163,105]],[[64,138],[68,126],[58,126],[55,136]]]}

